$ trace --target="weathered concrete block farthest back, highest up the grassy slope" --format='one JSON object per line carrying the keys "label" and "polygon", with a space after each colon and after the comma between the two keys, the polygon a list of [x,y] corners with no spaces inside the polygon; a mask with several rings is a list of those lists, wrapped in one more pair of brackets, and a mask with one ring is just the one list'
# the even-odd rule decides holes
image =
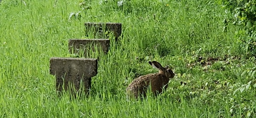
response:
{"label": "weathered concrete block farthest back, highest up the grassy slope", "polygon": [[[105,32],[110,31],[113,32],[117,40],[122,33],[122,23],[84,23],[84,25],[85,35],[88,36],[88,32],[93,30],[94,38],[109,38]],[[98,37],[96,37],[96,34],[98,34]]]}

